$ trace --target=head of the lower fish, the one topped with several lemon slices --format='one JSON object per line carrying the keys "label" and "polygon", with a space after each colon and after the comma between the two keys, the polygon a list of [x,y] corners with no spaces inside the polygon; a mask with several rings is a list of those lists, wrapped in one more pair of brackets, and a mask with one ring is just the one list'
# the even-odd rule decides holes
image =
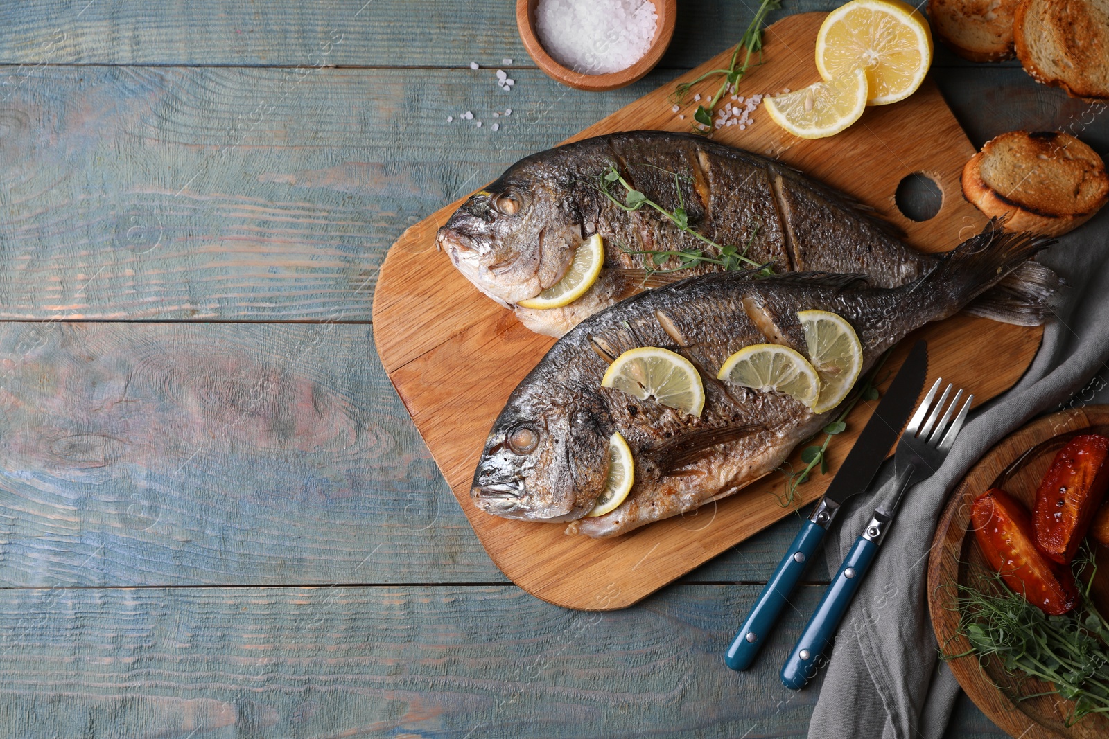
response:
{"label": "head of the lower fish, the one topped with several lemon slices", "polygon": [[[525,393],[527,394],[527,393]],[[572,521],[604,490],[609,442],[603,421],[584,408],[539,412],[513,398],[494,423],[474,473],[470,497],[494,515],[525,521]]]}

